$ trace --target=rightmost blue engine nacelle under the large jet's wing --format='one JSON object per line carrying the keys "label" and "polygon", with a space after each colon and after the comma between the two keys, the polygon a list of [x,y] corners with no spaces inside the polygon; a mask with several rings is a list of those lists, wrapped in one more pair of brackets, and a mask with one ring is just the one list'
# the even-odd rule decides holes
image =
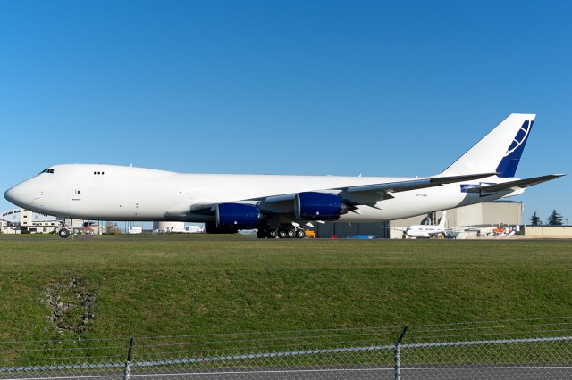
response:
{"label": "rightmost blue engine nacelle under the large jet's wing", "polygon": [[296,194],[296,219],[337,220],[347,212],[346,205],[336,194],[305,192]]}

